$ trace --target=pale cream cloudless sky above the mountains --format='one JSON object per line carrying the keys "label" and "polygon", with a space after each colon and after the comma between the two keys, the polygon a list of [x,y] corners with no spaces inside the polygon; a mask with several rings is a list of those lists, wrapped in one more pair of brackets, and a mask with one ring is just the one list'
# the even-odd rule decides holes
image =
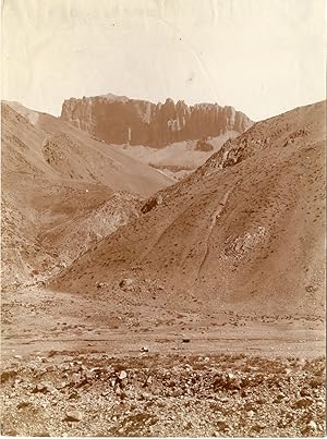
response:
{"label": "pale cream cloudless sky above the mountains", "polygon": [[2,0],[2,99],[231,105],[254,120],[326,98],[325,0]]}

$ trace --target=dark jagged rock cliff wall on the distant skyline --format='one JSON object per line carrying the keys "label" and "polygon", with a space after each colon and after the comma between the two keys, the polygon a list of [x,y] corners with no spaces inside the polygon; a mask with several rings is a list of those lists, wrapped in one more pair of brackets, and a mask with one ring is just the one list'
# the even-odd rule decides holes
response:
{"label": "dark jagged rock cliff wall on the distant skyline", "polygon": [[233,107],[217,103],[189,107],[172,99],[155,105],[114,95],[68,99],[61,118],[106,143],[156,148],[173,142],[215,137],[228,131],[241,134],[253,124]]}

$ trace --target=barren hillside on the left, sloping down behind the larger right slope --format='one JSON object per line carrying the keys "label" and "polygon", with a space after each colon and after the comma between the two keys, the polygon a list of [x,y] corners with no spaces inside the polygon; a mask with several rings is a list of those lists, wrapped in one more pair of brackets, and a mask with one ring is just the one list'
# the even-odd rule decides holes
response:
{"label": "barren hillside on the left, sloping down behind the larger right slope", "polygon": [[59,271],[172,182],[60,119],[1,107],[3,286]]}

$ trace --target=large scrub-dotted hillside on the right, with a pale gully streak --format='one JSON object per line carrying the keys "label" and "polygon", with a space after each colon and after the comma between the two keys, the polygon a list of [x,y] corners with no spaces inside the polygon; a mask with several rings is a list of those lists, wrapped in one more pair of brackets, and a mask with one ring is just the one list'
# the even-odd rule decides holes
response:
{"label": "large scrub-dotted hillside on the right, with a pale gully streak", "polygon": [[108,300],[189,309],[323,312],[325,138],[325,102],[256,123],[147,202],[57,289],[100,283]]}

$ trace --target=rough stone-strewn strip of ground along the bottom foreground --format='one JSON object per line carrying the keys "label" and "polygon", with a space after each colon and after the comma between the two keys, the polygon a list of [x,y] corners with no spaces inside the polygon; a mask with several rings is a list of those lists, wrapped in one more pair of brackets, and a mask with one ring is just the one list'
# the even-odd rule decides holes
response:
{"label": "rough stone-strewn strip of ground along the bottom foreground", "polygon": [[325,436],[323,357],[51,351],[1,382],[5,436]]}

